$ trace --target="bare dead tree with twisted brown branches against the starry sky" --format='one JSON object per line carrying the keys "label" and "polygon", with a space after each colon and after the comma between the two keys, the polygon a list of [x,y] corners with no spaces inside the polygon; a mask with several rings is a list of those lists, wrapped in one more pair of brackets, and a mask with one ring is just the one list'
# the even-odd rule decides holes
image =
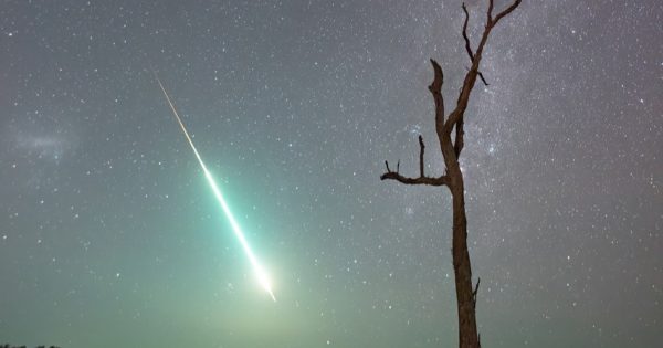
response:
{"label": "bare dead tree with twisted brown branches against the starry sky", "polygon": [[[389,162],[385,161],[387,172],[385,172],[381,180],[396,180],[406,184],[428,184],[428,186],[444,186],[449,188],[453,201],[453,241],[452,241],[452,254],[453,254],[453,271],[455,275],[455,288],[456,288],[456,304],[459,312],[459,346],[461,348],[478,348],[481,347],[480,335],[476,330],[476,293],[478,291],[478,284],[481,280],[477,280],[476,285],[472,286],[472,266],[470,264],[470,253],[467,252],[467,220],[465,217],[465,193],[463,186],[463,172],[459,165],[459,157],[463,150],[463,117],[467,108],[470,101],[470,93],[474,87],[476,78],[487,86],[483,74],[478,71],[481,63],[482,53],[491,31],[497,22],[504,17],[513,12],[522,0],[515,0],[511,6],[493,17],[493,0],[488,0],[487,20],[484,27],[483,34],[476,52],[472,51],[470,44],[470,38],[467,36],[467,21],[470,14],[467,8],[463,3],[463,12],[465,13],[465,21],[463,23],[463,39],[465,40],[465,51],[472,60],[472,66],[465,74],[463,86],[459,98],[456,101],[455,108],[444,116],[444,99],[442,98],[442,83],[443,73],[440,64],[434,60],[431,60],[433,65],[434,77],[433,82],[429,86],[429,91],[433,95],[435,102],[435,131],[440,141],[440,150],[444,158],[445,172],[440,177],[428,177],[424,173],[423,152],[425,146],[423,138],[419,136],[419,177],[409,178],[403,177],[399,172],[397,166],[396,171],[389,168]],[[452,140],[453,131],[453,140]]]}

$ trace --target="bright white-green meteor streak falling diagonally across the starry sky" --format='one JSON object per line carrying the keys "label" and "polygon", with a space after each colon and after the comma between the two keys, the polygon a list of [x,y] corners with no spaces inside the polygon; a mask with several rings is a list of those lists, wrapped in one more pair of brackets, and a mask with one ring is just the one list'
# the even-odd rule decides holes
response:
{"label": "bright white-green meteor streak falling diagonally across the starry sky", "polygon": [[274,302],[276,302],[276,297],[274,296],[274,293],[272,292],[272,285],[270,283],[270,277],[267,276],[267,273],[260,265],[260,263],[257,262],[257,257],[255,257],[255,255],[253,254],[253,251],[251,250],[251,246],[249,246],[249,242],[244,238],[244,233],[242,232],[242,229],[240,228],[240,224],[236,222],[236,220],[232,215],[232,212],[230,211],[230,208],[228,207],[228,203],[223,199],[223,194],[221,194],[221,189],[219,189],[219,187],[217,186],[217,182],[214,181],[214,178],[212,177],[212,175],[210,173],[210,171],[207,169],[207,166],[202,161],[202,158],[200,157],[200,154],[198,154],[198,149],[196,149],[196,145],[193,145],[193,140],[191,140],[191,137],[189,136],[189,133],[187,131],[187,128],[185,127],[185,124],[182,123],[182,119],[179,117],[179,114],[177,113],[177,109],[175,108],[175,105],[172,105],[172,102],[170,101],[170,97],[168,96],[168,93],[166,93],[166,88],[164,88],[164,84],[161,84],[161,81],[159,80],[159,76],[157,76],[156,73],[155,73],[155,77],[157,78],[157,82],[159,83],[159,86],[161,87],[161,91],[164,92],[164,95],[166,96],[166,99],[168,101],[168,105],[170,105],[170,109],[172,110],[172,114],[175,115],[175,118],[177,118],[177,123],[182,128],[182,131],[185,133],[185,136],[187,137],[187,140],[189,141],[189,145],[191,146],[191,149],[193,150],[193,154],[196,155],[196,158],[198,159],[198,162],[200,164],[200,167],[202,167],[202,171],[204,172],[204,177],[207,178],[208,183],[212,188],[212,191],[214,192],[214,196],[217,197],[217,200],[221,204],[221,209],[225,213],[225,217],[228,218],[228,221],[230,221],[230,225],[232,226],[232,232],[234,232],[234,234],[238,238],[238,240],[240,240],[240,243],[242,244],[242,247],[244,249],[244,252],[246,253],[246,256],[249,257],[249,261],[251,262],[251,265],[253,266],[255,275],[257,276],[257,281],[260,282],[260,285],[262,287],[264,287],[264,289],[267,293],[270,293],[270,296],[272,296],[272,299]]}

